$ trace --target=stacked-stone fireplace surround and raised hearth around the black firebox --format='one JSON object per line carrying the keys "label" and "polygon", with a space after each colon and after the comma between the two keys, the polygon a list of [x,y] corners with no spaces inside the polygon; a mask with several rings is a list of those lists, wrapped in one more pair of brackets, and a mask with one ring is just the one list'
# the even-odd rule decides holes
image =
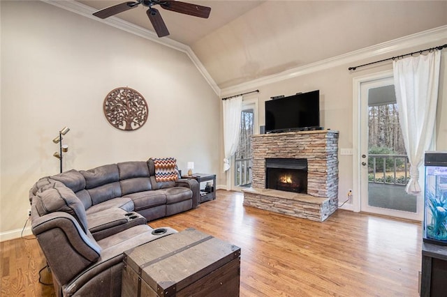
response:
{"label": "stacked-stone fireplace surround and raised hearth around the black firebox", "polygon": [[[338,136],[334,130],[253,135],[244,205],[323,222],[338,208]],[[307,195],[266,189],[266,158],[307,158]]]}

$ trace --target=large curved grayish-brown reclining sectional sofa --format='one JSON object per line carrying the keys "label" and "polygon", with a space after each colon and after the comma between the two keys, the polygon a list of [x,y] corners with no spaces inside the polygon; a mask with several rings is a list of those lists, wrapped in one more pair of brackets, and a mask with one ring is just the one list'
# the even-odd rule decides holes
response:
{"label": "large curved grayish-brown reclining sectional sofa", "polygon": [[193,179],[157,182],[154,162],[122,162],[41,178],[29,191],[31,230],[57,296],[120,296],[122,253],[170,228],[147,221],[196,208]]}

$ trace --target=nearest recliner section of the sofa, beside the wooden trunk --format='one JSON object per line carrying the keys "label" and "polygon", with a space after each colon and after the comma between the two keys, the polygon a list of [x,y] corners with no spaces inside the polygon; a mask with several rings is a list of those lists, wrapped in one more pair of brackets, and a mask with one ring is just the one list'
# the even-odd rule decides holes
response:
{"label": "nearest recliner section of the sofa, beside the wooden trunk", "polygon": [[32,218],[32,231],[51,268],[57,296],[121,296],[123,252],[176,232],[165,229],[157,233],[140,224],[95,241],[69,213]]}

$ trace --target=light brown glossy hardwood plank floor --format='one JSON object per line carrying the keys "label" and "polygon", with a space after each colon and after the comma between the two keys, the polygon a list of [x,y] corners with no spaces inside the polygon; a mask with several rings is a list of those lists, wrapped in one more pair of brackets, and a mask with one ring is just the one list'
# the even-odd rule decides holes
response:
{"label": "light brown glossy hardwood plank floor", "polygon": [[[151,227],[196,228],[240,246],[240,296],[418,296],[421,227],[339,210],[312,222],[244,207],[237,192]],[[1,296],[52,296],[36,240],[0,243]],[[44,282],[51,282],[47,271]]]}

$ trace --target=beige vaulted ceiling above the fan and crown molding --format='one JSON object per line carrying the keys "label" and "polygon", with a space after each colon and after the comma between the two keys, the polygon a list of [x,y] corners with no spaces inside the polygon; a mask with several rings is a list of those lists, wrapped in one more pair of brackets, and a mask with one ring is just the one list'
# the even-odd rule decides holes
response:
{"label": "beige vaulted ceiling above the fan and crown molding", "polygon": [[[447,24],[447,1],[185,1],[210,6],[210,18],[159,9],[167,38],[191,47],[220,89]],[[154,31],[145,10],[116,17]]]}

